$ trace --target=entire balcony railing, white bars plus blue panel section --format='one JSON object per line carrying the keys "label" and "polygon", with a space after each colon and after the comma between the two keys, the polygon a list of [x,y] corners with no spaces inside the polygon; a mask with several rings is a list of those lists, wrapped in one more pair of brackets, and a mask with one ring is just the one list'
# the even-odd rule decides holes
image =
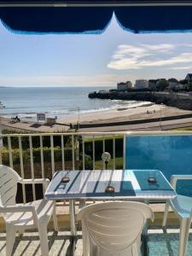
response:
{"label": "entire balcony railing, white bars plus blue panel section", "polygon": [[[175,139],[172,140],[172,138]],[[170,169],[174,168],[172,172],[180,172],[175,170],[173,160],[170,160],[177,150],[179,154],[187,155],[188,158],[184,161],[181,155],[180,166],[183,166],[183,174],[185,171],[192,173],[192,168],[189,166],[192,155],[192,132],[190,131],[2,134],[0,139],[3,144],[0,148],[0,164],[13,167],[23,178],[48,177],[51,179],[54,173],[60,170],[96,170],[106,167],[113,170],[136,169],[142,166],[146,168],[146,165],[153,169],[165,168],[161,171],[166,172],[165,164]],[[153,142],[156,147],[154,149]],[[156,143],[159,144],[156,145]],[[140,154],[138,150],[141,148],[143,151]],[[165,148],[170,150],[170,155]],[[172,148],[175,151],[172,151]],[[108,166],[102,162],[102,153],[106,151],[111,154]],[[161,166],[161,161],[164,166]],[[169,172],[168,177],[171,174]],[[32,200],[38,198],[38,189],[34,184],[31,193],[29,191],[30,188],[24,185],[20,188],[22,201],[28,201],[28,197]]]}

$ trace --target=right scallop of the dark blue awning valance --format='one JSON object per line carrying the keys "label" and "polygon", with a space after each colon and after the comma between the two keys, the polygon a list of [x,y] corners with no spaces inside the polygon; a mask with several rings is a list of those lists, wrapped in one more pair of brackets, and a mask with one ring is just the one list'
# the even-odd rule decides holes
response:
{"label": "right scallop of the dark blue awning valance", "polygon": [[192,31],[192,7],[189,6],[116,8],[115,15],[120,26],[135,33]]}

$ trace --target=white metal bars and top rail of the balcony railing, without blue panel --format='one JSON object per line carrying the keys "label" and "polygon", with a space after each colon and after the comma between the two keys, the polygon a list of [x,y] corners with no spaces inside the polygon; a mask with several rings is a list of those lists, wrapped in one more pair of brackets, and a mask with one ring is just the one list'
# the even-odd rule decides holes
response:
{"label": "white metal bars and top rail of the balcony railing, without blue panel", "polygon": [[[47,166],[48,162],[46,156],[44,155],[44,141],[46,137],[46,143],[49,142],[49,154],[50,154],[50,172],[49,178],[53,177],[55,171],[58,171],[58,167],[56,170],[57,161],[55,161],[55,145],[57,149],[61,151],[61,160],[60,160],[60,170],[66,170],[67,163],[71,163],[71,169],[76,170],[79,169],[79,163],[81,161],[81,169],[85,170],[85,153],[87,152],[87,146],[91,145],[91,160],[92,160],[92,169],[96,169],[96,163],[98,160],[101,160],[102,163],[102,152],[108,151],[106,148],[106,141],[108,139],[111,140],[112,148],[110,148],[110,152],[112,155],[113,163],[111,163],[111,168],[116,168],[116,140],[121,139],[122,137],[122,168],[125,169],[125,137],[143,137],[143,136],[186,136],[192,135],[192,131],[127,131],[127,132],[73,132],[73,133],[32,133],[32,134],[2,134],[3,147],[0,148],[0,164],[4,164],[4,155],[6,155],[7,162],[5,163],[8,166],[15,168],[15,149],[17,149],[17,154],[19,154],[19,164],[17,162],[17,166],[20,166],[20,176],[22,178],[27,178],[29,173],[26,173],[26,163],[25,163],[25,152],[29,156],[28,165],[30,166],[30,176],[32,178],[37,177],[48,177]],[[55,138],[57,139],[55,144]],[[100,148],[101,155],[96,155],[96,142],[100,140],[102,148]],[[34,139],[36,139],[36,144],[38,142],[38,150],[39,150],[39,160],[38,160],[38,170],[35,172],[34,168]],[[13,141],[15,140],[15,141]],[[23,142],[27,144],[27,147],[23,147]],[[37,146],[37,145],[36,145]],[[71,152],[71,157],[66,156],[66,152]],[[67,158],[70,158],[68,160]],[[80,160],[79,160],[80,159]],[[96,161],[97,160],[97,161]],[[8,163],[9,161],[9,163]],[[100,168],[105,169],[105,163],[102,163]],[[29,172],[29,170],[27,171]],[[22,194],[23,201],[26,201],[26,189],[24,185],[22,186]],[[32,196],[33,199],[36,199],[36,190],[35,186],[32,186]]]}

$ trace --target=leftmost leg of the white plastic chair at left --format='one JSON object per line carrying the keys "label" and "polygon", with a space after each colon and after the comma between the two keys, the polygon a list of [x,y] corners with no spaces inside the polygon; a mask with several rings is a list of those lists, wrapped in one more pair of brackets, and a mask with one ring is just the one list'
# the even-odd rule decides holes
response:
{"label": "leftmost leg of the white plastic chair at left", "polygon": [[15,227],[11,224],[6,224],[6,232],[6,256],[11,256],[16,236]]}

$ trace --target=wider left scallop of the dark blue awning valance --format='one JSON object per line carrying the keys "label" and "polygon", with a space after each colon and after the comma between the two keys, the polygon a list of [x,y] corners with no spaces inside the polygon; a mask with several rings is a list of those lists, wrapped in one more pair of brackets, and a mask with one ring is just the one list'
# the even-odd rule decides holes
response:
{"label": "wider left scallop of the dark blue awning valance", "polygon": [[21,33],[101,33],[111,8],[0,8],[3,25]]}

